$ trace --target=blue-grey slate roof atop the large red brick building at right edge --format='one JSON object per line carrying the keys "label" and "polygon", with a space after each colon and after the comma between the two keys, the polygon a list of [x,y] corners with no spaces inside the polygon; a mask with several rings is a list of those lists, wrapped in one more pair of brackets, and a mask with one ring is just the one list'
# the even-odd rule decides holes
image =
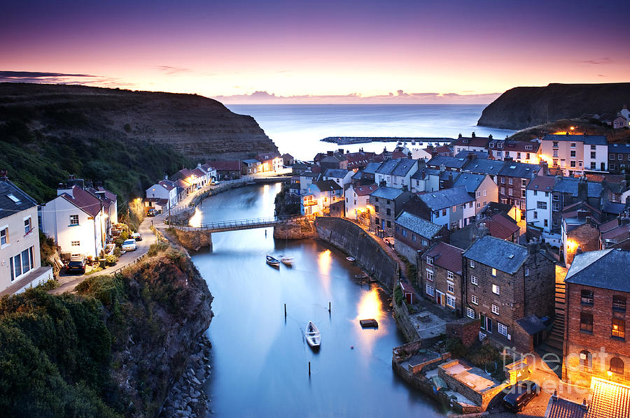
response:
{"label": "blue-grey slate roof atop the large red brick building at right edge", "polygon": [[601,289],[630,292],[627,269],[630,251],[608,249],[583,252],[573,259],[564,281]]}

